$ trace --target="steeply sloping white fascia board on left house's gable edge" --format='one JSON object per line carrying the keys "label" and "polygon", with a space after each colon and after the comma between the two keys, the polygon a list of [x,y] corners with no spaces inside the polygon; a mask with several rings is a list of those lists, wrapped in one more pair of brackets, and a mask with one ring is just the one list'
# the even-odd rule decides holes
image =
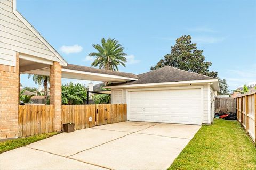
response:
{"label": "steeply sloping white fascia board on left house's gable edge", "polygon": [[12,9],[13,9],[13,13],[14,15],[17,16],[18,19],[21,20],[21,22],[23,24],[25,24],[28,29],[33,32],[35,34],[35,36],[42,41],[42,43],[51,50],[51,52],[57,56],[57,58],[60,60],[60,65],[63,66],[67,66],[68,63],[66,62],[66,60],[64,60],[64,58],[61,57],[61,55],[43,38],[43,36],[40,35],[39,32],[37,32],[37,30],[17,11],[16,9],[16,0],[13,0],[12,3]]}

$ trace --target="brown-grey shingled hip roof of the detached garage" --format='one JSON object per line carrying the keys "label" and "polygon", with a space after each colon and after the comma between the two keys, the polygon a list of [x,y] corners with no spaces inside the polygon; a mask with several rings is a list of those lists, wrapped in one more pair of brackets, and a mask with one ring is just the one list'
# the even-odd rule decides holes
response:
{"label": "brown-grey shingled hip roof of the detached garage", "polygon": [[125,83],[111,83],[107,86],[217,79],[206,75],[180,70],[171,66],[165,66],[137,76],[139,77],[138,80]]}

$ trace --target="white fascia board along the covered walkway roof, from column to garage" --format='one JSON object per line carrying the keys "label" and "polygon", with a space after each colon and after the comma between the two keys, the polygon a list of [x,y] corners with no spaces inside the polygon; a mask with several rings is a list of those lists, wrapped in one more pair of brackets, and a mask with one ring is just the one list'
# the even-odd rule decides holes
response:
{"label": "white fascia board along the covered walkway roof, from column to garage", "polygon": [[125,80],[138,80],[135,78],[123,77],[119,75],[110,75],[110,74],[101,74],[101,73],[91,73],[86,71],[79,71],[79,70],[71,70],[71,69],[64,69],[62,68],[61,71],[69,72],[69,73],[77,73],[77,74],[86,74],[86,75],[94,75],[94,76],[101,76],[106,78],[116,78],[116,79],[125,79]]}

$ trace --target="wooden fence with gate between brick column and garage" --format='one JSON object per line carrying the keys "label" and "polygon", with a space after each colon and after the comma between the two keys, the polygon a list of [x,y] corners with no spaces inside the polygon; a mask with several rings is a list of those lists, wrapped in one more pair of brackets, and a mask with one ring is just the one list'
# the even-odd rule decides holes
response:
{"label": "wooden fence with gate between brick column and garage", "polygon": [[127,110],[126,104],[62,105],[61,117],[62,123],[75,123],[78,130],[126,121]]}

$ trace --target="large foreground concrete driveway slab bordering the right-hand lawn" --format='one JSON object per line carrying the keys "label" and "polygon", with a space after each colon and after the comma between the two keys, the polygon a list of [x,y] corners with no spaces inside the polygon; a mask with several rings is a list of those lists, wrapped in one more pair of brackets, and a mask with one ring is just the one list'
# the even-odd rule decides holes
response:
{"label": "large foreground concrete driveway slab bordering the right-hand lawn", "polygon": [[189,141],[133,133],[71,158],[111,169],[167,169]]}

